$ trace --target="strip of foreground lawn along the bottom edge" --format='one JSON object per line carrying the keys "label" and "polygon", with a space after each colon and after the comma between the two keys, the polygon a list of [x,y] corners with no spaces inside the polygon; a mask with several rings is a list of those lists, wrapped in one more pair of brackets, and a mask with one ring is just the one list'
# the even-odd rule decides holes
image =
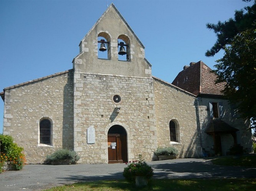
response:
{"label": "strip of foreground lawn along the bottom edge", "polygon": [[255,190],[255,178],[224,178],[224,179],[153,179],[145,188],[136,188],[134,184],[125,180],[114,181],[93,181],[84,183],[75,183],[72,185],[59,186],[48,189],[47,191],[133,191],[133,190],[218,190],[218,191],[241,191],[241,190]]}

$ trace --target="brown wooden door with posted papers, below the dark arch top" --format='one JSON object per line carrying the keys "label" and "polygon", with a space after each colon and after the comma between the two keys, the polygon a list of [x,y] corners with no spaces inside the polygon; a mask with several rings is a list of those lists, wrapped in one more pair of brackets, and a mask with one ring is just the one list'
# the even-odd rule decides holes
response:
{"label": "brown wooden door with posted papers, below the dark arch top", "polygon": [[127,137],[124,134],[108,134],[108,163],[127,162]]}

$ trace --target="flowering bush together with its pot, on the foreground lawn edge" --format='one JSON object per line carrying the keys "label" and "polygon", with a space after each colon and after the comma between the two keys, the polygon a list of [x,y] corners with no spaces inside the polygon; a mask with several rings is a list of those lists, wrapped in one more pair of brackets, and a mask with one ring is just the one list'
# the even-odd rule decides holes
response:
{"label": "flowering bush together with its pot, on the foreground lawn edge", "polygon": [[135,182],[136,186],[146,186],[148,180],[153,176],[153,169],[139,154],[138,160],[129,161],[127,167],[124,168],[123,176],[130,182]]}

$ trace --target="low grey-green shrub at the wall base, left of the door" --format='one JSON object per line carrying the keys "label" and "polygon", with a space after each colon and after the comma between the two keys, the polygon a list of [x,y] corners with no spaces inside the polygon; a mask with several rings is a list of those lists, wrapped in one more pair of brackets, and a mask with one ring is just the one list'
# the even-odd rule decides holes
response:
{"label": "low grey-green shrub at the wall base, left of the door", "polygon": [[68,149],[59,149],[53,154],[47,155],[45,164],[50,164],[51,162],[58,162],[61,160],[66,160],[68,163],[74,164],[80,159],[80,156],[76,151],[69,151]]}

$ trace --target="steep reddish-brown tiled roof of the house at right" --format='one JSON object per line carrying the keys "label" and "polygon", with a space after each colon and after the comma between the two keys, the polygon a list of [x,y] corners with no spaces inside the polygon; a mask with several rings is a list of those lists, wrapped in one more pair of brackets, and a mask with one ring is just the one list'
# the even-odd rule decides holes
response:
{"label": "steep reddish-brown tiled roof of the house at right", "polygon": [[195,95],[223,95],[221,90],[224,89],[225,83],[215,84],[216,75],[210,71],[211,68],[202,61],[191,62],[190,66],[184,66],[172,84]]}

